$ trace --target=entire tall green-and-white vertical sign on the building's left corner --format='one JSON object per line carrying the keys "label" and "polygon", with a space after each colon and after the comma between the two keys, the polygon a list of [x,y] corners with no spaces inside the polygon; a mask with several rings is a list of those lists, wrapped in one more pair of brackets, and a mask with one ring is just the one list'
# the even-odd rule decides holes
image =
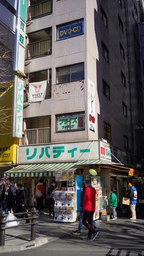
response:
{"label": "entire tall green-and-white vertical sign on the building's left corner", "polygon": [[[18,0],[16,8],[15,52],[13,70],[24,75],[27,0]],[[23,126],[23,79],[15,76],[13,86],[12,137],[22,137]]]}

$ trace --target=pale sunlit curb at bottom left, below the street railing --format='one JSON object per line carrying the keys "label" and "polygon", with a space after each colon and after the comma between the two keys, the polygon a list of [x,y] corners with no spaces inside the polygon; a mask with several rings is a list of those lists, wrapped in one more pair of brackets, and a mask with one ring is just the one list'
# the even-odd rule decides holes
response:
{"label": "pale sunlit curb at bottom left, below the street railing", "polygon": [[49,236],[48,238],[37,238],[34,241],[29,241],[24,244],[14,244],[12,246],[0,246],[0,254],[4,252],[20,252],[25,251],[27,249],[36,248],[39,246],[42,246],[43,244],[50,243],[52,241],[55,241],[59,238],[54,236]]}

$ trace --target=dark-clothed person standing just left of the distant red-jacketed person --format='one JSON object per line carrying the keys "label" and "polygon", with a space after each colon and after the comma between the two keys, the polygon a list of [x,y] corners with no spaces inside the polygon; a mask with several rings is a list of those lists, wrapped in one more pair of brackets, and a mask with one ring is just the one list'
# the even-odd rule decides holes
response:
{"label": "dark-clothed person standing just left of the distant red-jacketed person", "polygon": [[[26,193],[24,187],[21,184],[17,184],[16,186],[16,213],[25,213],[25,218],[28,218],[28,214],[26,211]],[[26,223],[29,223],[29,219],[26,219]]]}

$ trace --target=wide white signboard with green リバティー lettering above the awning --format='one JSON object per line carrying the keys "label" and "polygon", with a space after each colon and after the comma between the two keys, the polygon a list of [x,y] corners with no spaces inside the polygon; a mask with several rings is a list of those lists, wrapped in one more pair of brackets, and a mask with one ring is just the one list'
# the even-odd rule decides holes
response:
{"label": "wide white signboard with green \u30ea\u30d0\u30c6\u30a3\u30fc lettering above the awning", "polygon": [[18,148],[18,163],[99,159],[99,141],[29,145]]}

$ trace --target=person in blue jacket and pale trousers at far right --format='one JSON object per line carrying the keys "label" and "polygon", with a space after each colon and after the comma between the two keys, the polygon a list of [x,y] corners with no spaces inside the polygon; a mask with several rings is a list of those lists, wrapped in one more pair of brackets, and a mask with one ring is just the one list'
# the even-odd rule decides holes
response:
{"label": "person in blue jacket and pale trousers at far right", "polygon": [[133,220],[136,219],[135,206],[137,204],[137,189],[130,182],[128,184],[128,189],[129,190],[126,196],[130,198],[130,210],[132,215],[130,219]]}

